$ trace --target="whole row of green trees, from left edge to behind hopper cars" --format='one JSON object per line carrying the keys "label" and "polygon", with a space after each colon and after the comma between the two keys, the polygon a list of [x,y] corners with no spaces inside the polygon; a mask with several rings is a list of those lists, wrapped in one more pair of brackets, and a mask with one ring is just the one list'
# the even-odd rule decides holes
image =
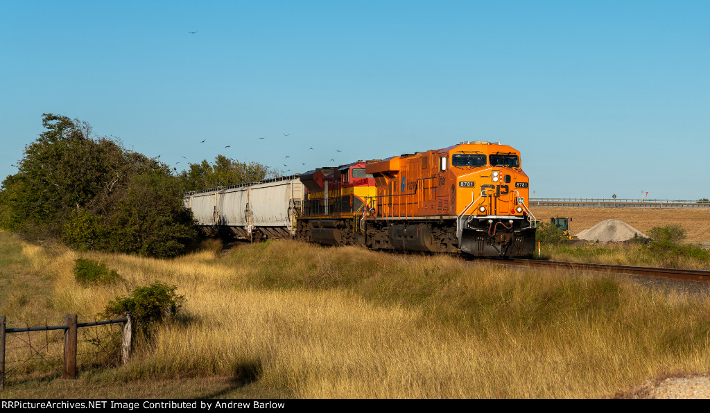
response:
{"label": "whole row of green trees, from left edge to behind hopper cars", "polygon": [[89,123],[43,114],[18,172],[0,186],[0,228],[80,250],[168,258],[199,239],[182,194],[275,176],[258,163],[218,155],[177,173],[155,158],[95,136]]}

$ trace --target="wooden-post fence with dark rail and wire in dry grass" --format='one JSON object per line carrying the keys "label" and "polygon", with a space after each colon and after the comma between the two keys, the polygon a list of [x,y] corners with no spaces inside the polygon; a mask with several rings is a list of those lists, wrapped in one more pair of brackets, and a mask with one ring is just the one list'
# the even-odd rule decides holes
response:
{"label": "wooden-post fence with dark rail and wire in dry grass", "polygon": [[[67,314],[64,324],[31,327],[0,316],[0,390],[8,378],[58,375],[74,378],[78,370],[127,364],[131,355],[134,323],[124,319],[78,323],[77,314]],[[24,326],[22,326],[24,324]]]}

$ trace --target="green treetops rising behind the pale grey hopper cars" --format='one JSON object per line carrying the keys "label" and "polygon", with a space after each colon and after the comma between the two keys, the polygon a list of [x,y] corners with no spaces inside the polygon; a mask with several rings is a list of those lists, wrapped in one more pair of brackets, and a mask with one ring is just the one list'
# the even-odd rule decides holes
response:
{"label": "green treetops rising behind the pale grey hopper cars", "polygon": [[210,164],[207,160],[202,160],[202,163],[190,163],[190,169],[182,171],[180,179],[185,185],[185,190],[196,191],[246,184],[275,176],[275,171],[261,163],[244,163],[224,155],[217,155],[214,164]]}

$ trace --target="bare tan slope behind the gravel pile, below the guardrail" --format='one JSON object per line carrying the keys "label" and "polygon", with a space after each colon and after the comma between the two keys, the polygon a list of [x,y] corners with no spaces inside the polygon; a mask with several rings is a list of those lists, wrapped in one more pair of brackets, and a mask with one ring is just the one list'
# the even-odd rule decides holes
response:
{"label": "bare tan slope behind the gravel pile, below the guardrail", "polygon": [[553,216],[572,218],[570,230],[579,233],[606,219],[618,219],[646,233],[654,226],[678,224],[687,231],[688,243],[710,245],[710,209],[628,209],[628,208],[561,208],[535,206],[531,208],[537,219]]}

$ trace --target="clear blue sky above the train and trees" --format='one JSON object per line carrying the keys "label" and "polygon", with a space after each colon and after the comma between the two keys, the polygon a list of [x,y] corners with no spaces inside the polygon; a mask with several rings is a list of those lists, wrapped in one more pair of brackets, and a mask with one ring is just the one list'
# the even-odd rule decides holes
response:
{"label": "clear blue sky above the train and trees", "polygon": [[486,140],[537,197],[710,198],[709,20],[706,0],[0,0],[0,180],[54,113],[178,170]]}

